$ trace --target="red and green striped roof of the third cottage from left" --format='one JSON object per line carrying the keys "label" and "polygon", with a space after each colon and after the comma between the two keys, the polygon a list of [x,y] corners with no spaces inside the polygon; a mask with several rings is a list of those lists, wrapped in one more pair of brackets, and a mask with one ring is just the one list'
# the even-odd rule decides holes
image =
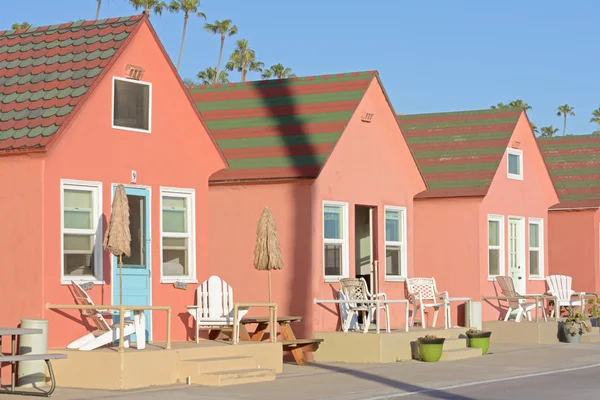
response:
{"label": "red and green striped roof of the third cottage from left", "polygon": [[399,115],[427,197],[485,196],[521,109]]}

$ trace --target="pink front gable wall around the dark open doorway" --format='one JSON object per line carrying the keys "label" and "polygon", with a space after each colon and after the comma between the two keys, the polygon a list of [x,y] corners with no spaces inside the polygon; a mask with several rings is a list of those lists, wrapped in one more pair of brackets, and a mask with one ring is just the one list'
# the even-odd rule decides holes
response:
{"label": "pink front gable wall around the dark open doorway", "polygon": [[[362,122],[363,111],[374,113],[373,121]],[[408,273],[413,269],[413,197],[425,189],[414,159],[381,86],[373,80],[357,112],[352,116],[321,174],[313,184],[312,266],[315,271],[313,296],[332,299],[339,283],[324,282],[323,211],[324,200],[348,202],[350,276],[355,276],[354,211],[356,205],[377,207],[378,227],[374,246],[379,254],[380,291],[388,298],[404,298],[401,282],[385,282],[384,206],[407,208]],[[311,299],[312,299],[311,297]],[[335,305],[313,305],[314,330],[334,330],[338,318]],[[404,322],[402,306],[392,305],[392,325]]]}

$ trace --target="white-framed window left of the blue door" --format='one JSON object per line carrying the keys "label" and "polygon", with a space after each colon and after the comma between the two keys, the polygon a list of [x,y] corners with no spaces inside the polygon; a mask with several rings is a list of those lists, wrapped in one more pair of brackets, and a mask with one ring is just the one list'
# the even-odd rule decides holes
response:
{"label": "white-framed window left of the blue door", "polygon": [[102,183],[62,179],[61,283],[102,282]]}

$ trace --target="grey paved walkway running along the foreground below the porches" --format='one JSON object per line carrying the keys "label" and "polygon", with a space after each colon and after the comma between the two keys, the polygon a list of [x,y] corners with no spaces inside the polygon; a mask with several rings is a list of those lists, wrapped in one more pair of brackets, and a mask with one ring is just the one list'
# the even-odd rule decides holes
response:
{"label": "grey paved walkway running along the foreground below the porches", "polygon": [[[57,389],[56,400],[387,400],[591,399],[600,390],[600,345],[495,345],[485,357],[386,365],[286,365],[274,382],[229,387],[172,386],[128,392]],[[597,397],[595,395],[594,399]]]}

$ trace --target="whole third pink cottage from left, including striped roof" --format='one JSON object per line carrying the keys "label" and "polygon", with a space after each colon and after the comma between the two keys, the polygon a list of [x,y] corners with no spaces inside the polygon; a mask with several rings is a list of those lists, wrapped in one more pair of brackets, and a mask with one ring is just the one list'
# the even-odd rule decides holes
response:
{"label": "whole third pink cottage from left, including striped roof", "polygon": [[[548,208],[558,202],[521,109],[401,115],[428,190],[415,197],[414,274],[450,296],[494,296],[511,276],[521,293],[545,292]],[[499,293],[498,293],[499,295]],[[453,310],[454,324],[463,324]],[[497,319],[498,304],[483,305]]]}

